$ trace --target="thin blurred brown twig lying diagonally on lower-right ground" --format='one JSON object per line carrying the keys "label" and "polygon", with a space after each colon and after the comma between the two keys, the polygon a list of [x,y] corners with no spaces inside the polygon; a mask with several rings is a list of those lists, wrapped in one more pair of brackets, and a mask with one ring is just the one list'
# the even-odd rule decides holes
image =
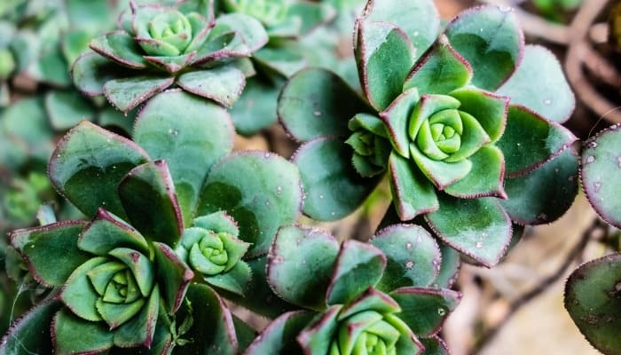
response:
{"label": "thin blurred brown twig lying diagonally on lower-right ground", "polygon": [[591,240],[593,235],[597,232],[606,232],[607,225],[601,222],[600,218],[594,218],[593,224],[591,224],[585,232],[582,233],[580,240],[576,245],[571,248],[570,252],[563,259],[562,264],[550,275],[546,278],[540,280],[538,284],[532,288],[530,291],[524,293],[522,296],[519,296],[509,305],[507,313],[504,317],[499,321],[499,324],[495,327],[487,328],[486,331],[483,332],[477,340],[475,345],[469,351],[470,354],[477,354],[483,350],[487,344],[491,343],[496,335],[499,334],[500,329],[507,324],[509,319],[515,314],[515,312],[519,311],[523,305],[531,302],[532,299],[541,295],[547,288],[554,285],[556,281],[560,280],[562,276],[567,272],[570,268],[571,264],[576,262],[582,256],[582,252],[586,248],[586,244]]}

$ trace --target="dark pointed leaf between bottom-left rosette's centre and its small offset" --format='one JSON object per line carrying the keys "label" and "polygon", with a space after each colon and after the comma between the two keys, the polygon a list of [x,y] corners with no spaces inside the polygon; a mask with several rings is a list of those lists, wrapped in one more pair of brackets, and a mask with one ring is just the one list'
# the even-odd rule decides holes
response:
{"label": "dark pointed leaf between bottom-left rosette's centre and its small offset", "polygon": [[169,314],[177,312],[194,273],[168,245],[153,243],[155,274]]}

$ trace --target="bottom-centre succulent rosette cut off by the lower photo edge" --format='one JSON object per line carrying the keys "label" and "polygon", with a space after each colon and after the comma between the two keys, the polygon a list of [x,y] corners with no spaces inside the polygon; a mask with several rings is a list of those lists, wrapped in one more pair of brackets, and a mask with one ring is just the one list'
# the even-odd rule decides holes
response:
{"label": "bottom-centre succulent rosette cut off by the lower photo edge", "polygon": [[274,319],[246,355],[445,353],[437,334],[460,294],[432,287],[448,271],[421,227],[392,225],[341,247],[328,233],[285,227],[268,257],[274,292],[312,311]]}

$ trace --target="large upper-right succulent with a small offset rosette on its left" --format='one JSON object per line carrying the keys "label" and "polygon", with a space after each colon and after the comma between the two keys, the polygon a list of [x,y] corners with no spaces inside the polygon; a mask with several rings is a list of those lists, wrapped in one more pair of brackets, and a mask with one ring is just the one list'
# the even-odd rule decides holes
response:
{"label": "large upper-right succulent with a small offset rosette on its left", "polygon": [[293,160],[305,214],[344,217],[386,175],[400,220],[490,266],[512,224],[551,222],[573,201],[577,138],[559,122],[574,98],[554,56],[524,46],[510,9],[474,8],[438,32],[432,2],[369,1],[355,31],[364,99],[305,69],[283,89],[279,119],[303,142]]}

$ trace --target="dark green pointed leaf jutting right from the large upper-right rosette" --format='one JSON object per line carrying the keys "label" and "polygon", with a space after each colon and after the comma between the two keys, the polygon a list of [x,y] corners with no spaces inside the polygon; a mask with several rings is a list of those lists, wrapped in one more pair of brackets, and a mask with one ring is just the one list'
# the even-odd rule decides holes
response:
{"label": "dark green pointed leaf jutting right from the large upper-right rosette", "polygon": [[509,106],[507,129],[497,145],[505,154],[507,177],[519,177],[561,154],[577,139],[559,123],[546,121],[523,106]]}

